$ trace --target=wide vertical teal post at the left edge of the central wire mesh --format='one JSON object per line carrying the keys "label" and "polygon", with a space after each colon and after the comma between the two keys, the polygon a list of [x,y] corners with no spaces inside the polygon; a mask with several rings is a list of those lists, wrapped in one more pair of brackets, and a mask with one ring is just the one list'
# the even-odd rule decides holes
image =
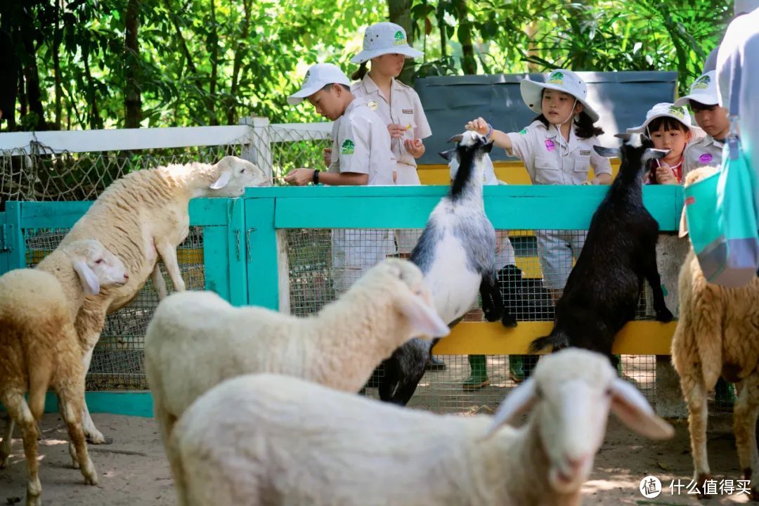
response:
{"label": "wide vertical teal post at the left edge of the central wire mesh", "polygon": [[247,303],[279,309],[274,199],[245,200]]}

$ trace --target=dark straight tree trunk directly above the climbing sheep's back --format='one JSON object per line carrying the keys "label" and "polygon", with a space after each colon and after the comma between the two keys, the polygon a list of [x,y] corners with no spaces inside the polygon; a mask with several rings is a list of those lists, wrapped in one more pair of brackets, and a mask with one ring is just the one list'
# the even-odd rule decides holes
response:
{"label": "dark straight tree trunk directly above the climbing sheep's back", "polygon": [[140,27],[140,2],[129,0],[124,18],[124,127],[139,128],[142,119],[142,96],[140,95],[140,44],[137,30]]}

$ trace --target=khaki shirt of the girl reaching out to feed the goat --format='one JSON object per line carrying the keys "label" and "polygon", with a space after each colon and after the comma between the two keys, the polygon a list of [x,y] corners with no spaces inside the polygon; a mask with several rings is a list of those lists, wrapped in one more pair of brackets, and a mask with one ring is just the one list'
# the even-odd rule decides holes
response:
{"label": "khaki shirt of the girl reaching out to feed the goat", "polygon": [[579,139],[574,125],[568,142],[553,124],[546,128],[537,120],[507,135],[512,140],[512,151],[507,153],[524,162],[533,184],[582,184],[591,165],[596,175],[612,173],[609,159],[593,149],[597,137]]}

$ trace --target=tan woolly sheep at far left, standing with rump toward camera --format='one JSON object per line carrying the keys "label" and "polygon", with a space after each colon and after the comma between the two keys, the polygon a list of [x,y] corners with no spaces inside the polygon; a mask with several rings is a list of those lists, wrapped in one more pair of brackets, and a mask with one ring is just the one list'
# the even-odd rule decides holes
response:
{"label": "tan woolly sheep at far left, standing with rump toward camera", "polygon": [[97,484],[82,430],[87,371],[74,319],[86,296],[128,279],[121,260],[96,240],[74,241],[50,253],[36,269],[16,269],[0,276],[0,402],[10,416],[0,443],[0,468],[8,466],[16,422],[29,472],[27,506],[42,504],[36,423],[48,387],[58,393],[74,467],[81,468],[86,483]]}

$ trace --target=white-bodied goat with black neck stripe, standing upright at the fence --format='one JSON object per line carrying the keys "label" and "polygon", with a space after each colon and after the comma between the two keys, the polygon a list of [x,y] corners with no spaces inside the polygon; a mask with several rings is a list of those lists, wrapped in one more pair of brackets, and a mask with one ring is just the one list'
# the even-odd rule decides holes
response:
{"label": "white-bodied goat with black neck stripe, standing upright at the fence", "polygon": [[[496,231],[483,203],[483,159],[493,143],[474,131],[451,140],[457,141],[458,171],[449,193],[430,214],[411,262],[424,273],[437,313],[449,326],[461,321],[478,292],[485,318],[495,322],[504,309],[496,284]],[[412,339],[382,363],[380,399],[408,403],[435,342]]]}

